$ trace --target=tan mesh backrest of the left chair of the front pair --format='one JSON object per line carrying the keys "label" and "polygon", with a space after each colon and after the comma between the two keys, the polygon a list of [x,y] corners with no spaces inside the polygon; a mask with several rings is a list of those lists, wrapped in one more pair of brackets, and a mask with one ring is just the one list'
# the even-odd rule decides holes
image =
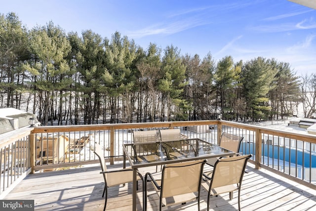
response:
{"label": "tan mesh backrest of the left chair of the front pair", "polygon": [[161,198],[200,191],[206,160],[167,164],[162,169]]}

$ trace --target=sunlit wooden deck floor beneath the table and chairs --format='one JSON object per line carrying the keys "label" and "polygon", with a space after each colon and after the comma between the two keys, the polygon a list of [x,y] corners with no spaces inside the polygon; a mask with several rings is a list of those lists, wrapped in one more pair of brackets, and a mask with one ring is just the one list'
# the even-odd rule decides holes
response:
{"label": "sunlit wooden deck floor beneath the table and chairs", "polygon": [[[116,164],[109,169],[121,168]],[[140,169],[142,172],[155,169]],[[265,169],[254,169],[248,164],[241,189],[241,210],[245,211],[314,211],[316,210],[316,190],[280,177]],[[42,211],[103,211],[104,187],[99,166],[62,171],[29,174],[4,199],[35,200],[35,210]],[[142,209],[141,182],[138,191],[137,209]],[[150,186],[151,187],[151,186]],[[109,189],[108,211],[130,211],[132,185]],[[158,196],[148,197],[148,210],[158,210]],[[206,210],[207,192],[201,192],[201,210]],[[211,198],[210,210],[235,211],[238,209],[237,192],[234,199],[228,194]],[[196,211],[197,202],[172,206],[164,210]]]}

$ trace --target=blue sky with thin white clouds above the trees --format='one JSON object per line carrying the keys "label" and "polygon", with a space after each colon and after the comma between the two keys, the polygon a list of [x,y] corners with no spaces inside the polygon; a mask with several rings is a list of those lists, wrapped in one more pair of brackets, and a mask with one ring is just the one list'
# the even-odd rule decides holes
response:
{"label": "blue sky with thin white clouds above the trees", "polygon": [[153,42],[215,61],[263,56],[298,76],[316,73],[316,10],[288,0],[3,0],[0,13],[8,12],[28,29],[52,21],[79,35],[118,31],[145,50]]}

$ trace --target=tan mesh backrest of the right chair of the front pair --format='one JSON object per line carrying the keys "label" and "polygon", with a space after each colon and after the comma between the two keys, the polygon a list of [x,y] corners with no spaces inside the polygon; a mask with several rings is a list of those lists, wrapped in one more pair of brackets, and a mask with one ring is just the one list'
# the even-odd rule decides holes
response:
{"label": "tan mesh backrest of the right chair of the front pair", "polygon": [[251,155],[221,158],[216,161],[213,169],[211,188],[239,184]]}

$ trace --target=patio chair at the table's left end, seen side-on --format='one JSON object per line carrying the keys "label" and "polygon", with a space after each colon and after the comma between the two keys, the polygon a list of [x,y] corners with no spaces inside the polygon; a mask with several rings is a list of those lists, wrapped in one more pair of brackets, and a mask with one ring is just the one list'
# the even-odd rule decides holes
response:
{"label": "patio chair at the table's left end, seen side-on", "polygon": [[[104,209],[103,209],[103,211],[105,211],[105,208],[107,206],[107,200],[108,200],[108,187],[117,186],[120,184],[132,182],[133,181],[133,169],[119,169],[119,170],[107,171],[107,166],[105,164],[105,159],[103,156],[104,153],[101,150],[101,146],[97,143],[95,144],[94,153],[99,158],[101,170],[102,170],[100,173],[103,174],[104,183],[105,183],[103,194],[102,194],[102,198],[105,195],[105,204],[104,204]],[[137,171],[137,173],[138,173],[137,180],[141,179],[143,181],[143,184],[144,184],[142,174],[138,171]],[[138,185],[137,185],[137,187],[138,187]]]}

